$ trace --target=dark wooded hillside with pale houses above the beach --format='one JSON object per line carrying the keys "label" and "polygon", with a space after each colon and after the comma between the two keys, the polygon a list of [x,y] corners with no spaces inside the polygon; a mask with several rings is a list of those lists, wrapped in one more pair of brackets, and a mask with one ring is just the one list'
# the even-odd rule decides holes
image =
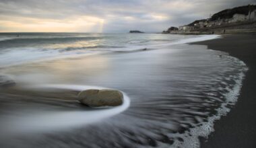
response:
{"label": "dark wooded hillside with pale houses above the beach", "polygon": [[170,27],[163,34],[224,34],[226,32],[255,31],[256,5],[225,9],[212,17],[195,20],[191,24]]}

